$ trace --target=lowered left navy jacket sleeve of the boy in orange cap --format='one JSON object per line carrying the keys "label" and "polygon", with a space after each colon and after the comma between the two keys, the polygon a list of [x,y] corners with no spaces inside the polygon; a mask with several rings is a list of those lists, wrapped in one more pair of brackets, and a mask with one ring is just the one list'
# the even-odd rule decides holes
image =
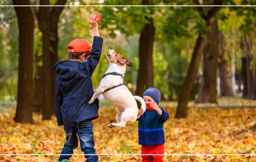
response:
{"label": "lowered left navy jacket sleeve of the boy in orange cap", "polygon": [[57,119],[58,126],[64,125],[62,116],[61,116],[61,104],[63,100],[63,95],[61,93],[61,90],[59,88],[59,85],[57,84],[57,79],[56,79],[56,90],[55,90],[55,104],[54,104],[54,111],[55,111],[55,116]]}

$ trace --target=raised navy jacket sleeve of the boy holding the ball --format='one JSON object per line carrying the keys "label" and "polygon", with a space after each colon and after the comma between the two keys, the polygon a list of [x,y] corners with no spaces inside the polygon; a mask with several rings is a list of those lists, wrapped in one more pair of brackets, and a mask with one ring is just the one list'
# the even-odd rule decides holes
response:
{"label": "raised navy jacket sleeve of the boy holding the ball", "polygon": [[90,76],[94,72],[97,64],[100,61],[100,55],[102,51],[103,38],[95,36],[93,38],[92,51],[90,57],[87,59],[87,62],[83,62],[85,69],[89,69]]}

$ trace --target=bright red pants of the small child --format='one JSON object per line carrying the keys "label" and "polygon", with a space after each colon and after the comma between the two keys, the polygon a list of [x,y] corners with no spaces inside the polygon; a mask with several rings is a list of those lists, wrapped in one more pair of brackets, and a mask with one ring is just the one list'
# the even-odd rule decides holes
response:
{"label": "bright red pants of the small child", "polygon": [[[164,154],[164,144],[142,145],[141,154]],[[142,162],[163,162],[164,155],[142,155]]]}

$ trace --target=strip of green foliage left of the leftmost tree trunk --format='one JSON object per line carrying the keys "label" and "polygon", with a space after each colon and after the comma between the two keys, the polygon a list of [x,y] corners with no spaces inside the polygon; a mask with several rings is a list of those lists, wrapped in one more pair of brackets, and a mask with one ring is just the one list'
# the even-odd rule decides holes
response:
{"label": "strip of green foliage left of the leftmost tree trunk", "polygon": [[[9,4],[2,1],[1,5]],[[13,7],[0,12],[0,99],[16,99],[18,79],[18,28]]]}

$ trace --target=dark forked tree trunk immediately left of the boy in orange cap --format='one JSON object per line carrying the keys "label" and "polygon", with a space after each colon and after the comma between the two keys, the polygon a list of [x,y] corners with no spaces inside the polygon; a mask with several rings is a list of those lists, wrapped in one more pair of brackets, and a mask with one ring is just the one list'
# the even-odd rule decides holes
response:
{"label": "dark forked tree trunk immediately left of the boy in orange cap", "polygon": [[[64,5],[67,0],[58,0],[55,5]],[[40,5],[49,5],[49,0],[40,0]],[[54,114],[55,102],[55,79],[56,72],[53,65],[58,62],[58,21],[63,6],[49,7],[40,6],[38,20],[39,28],[43,33],[43,120],[51,119]]]}

